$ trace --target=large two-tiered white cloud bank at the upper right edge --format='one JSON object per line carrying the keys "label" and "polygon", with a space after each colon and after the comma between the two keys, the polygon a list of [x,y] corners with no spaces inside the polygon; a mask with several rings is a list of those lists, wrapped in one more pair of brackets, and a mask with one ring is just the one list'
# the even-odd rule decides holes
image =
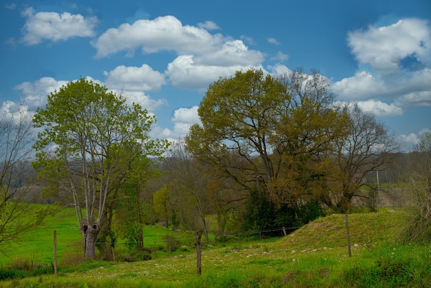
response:
{"label": "large two-tiered white cloud bank at the upper right edge", "polygon": [[[403,114],[409,107],[431,106],[431,28],[428,21],[401,19],[395,24],[348,33],[360,64],[355,76],[333,83],[344,101],[358,101],[377,116]],[[388,105],[387,103],[391,103]]]}

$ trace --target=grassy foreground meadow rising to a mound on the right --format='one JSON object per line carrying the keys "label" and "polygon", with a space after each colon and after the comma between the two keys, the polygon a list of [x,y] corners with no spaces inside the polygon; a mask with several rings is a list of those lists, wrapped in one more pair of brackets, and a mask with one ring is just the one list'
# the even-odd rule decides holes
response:
{"label": "grassy foreground meadow rising to a mound on the right", "polygon": [[[48,267],[39,275],[1,280],[0,287],[431,287],[431,246],[397,242],[406,216],[402,211],[349,214],[351,257],[345,216],[333,214],[284,237],[208,243],[201,276],[196,274],[196,250],[184,245],[146,261],[60,265],[58,276]],[[80,240],[77,229],[54,223],[48,230],[70,233],[66,244]],[[167,233],[163,227],[148,228],[155,241]],[[45,240],[51,243],[49,234]],[[21,243],[22,249],[28,246]],[[67,255],[67,249],[61,253]]]}

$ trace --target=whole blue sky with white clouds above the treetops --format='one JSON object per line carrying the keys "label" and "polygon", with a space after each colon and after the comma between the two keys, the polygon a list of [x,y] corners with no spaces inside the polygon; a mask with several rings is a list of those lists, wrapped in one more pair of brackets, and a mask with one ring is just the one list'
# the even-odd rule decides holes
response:
{"label": "whole blue sky with white clouds above the treetops", "polygon": [[407,149],[431,130],[430,0],[3,1],[0,21],[1,116],[88,76],[156,114],[152,136],[175,140],[220,76],[302,67]]}

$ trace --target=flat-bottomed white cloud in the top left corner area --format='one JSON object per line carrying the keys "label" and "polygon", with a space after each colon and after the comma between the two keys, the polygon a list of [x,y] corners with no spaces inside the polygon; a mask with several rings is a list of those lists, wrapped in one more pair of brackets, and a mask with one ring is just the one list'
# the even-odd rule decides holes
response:
{"label": "flat-bottomed white cloud in the top left corner area", "polygon": [[72,37],[93,37],[97,17],[83,17],[81,14],[62,14],[56,12],[38,12],[33,8],[22,13],[27,20],[23,27],[22,41],[28,45],[50,41],[67,40]]}

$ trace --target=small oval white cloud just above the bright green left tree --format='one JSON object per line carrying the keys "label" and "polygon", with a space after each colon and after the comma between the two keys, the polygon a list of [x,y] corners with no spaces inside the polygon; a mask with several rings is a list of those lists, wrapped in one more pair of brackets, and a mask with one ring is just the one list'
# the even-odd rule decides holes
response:
{"label": "small oval white cloud just above the bright green left tree", "polygon": [[104,74],[107,87],[116,90],[156,91],[166,83],[165,76],[147,64],[141,67],[120,65]]}

